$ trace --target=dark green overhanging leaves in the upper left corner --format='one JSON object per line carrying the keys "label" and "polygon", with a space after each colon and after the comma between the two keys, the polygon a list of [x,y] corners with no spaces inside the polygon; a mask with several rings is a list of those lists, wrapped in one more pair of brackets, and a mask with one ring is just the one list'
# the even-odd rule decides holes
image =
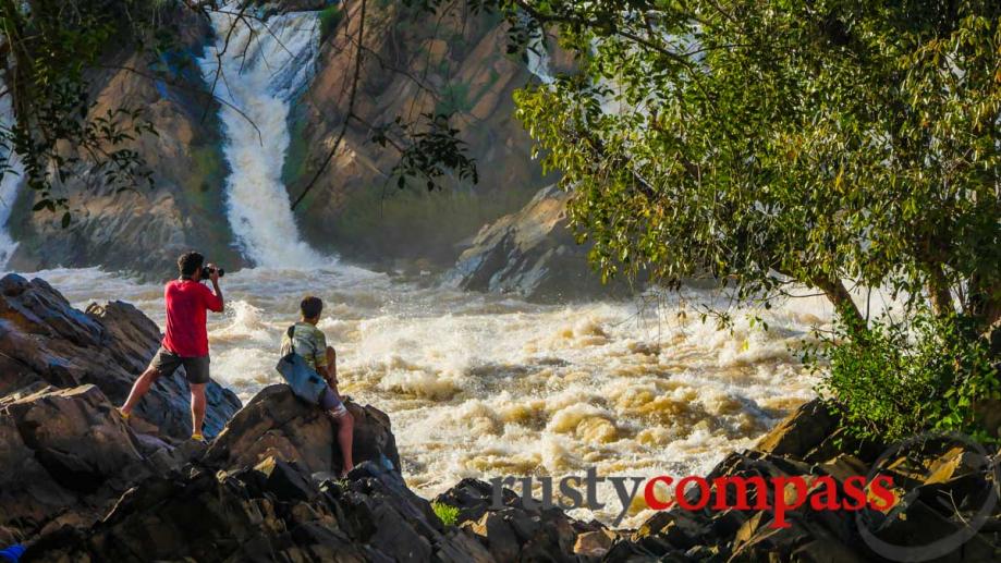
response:
{"label": "dark green overhanging leaves in the upper left corner", "polygon": [[144,109],[96,111],[86,71],[99,65],[111,42],[151,54],[169,50],[166,35],[148,33],[161,8],[137,0],[0,2],[2,96],[16,118],[0,128],[0,174],[13,173],[11,152],[21,156],[26,184],[39,196],[35,211],[61,212],[69,225],[68,199],[53,187],[73,174],[98,175],[119,189],[152,184],[151,171],[130,147],[156,133]]}

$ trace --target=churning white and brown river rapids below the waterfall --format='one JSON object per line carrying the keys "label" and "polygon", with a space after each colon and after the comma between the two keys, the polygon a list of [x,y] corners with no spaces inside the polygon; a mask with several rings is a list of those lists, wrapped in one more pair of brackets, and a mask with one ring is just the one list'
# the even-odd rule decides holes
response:
{"label": "churning white and brown river rapids below the waterfall", "polygon": [[[78,306],[130,301],[163,323],[159,284],[97,269],[38,276]],[[327,303],[320,328],[343,391],[389,413],[425,497],[467,476],[705,474],[813,395],[791,347],[830,315],[799,298],[761,311],[768,331],[743,314],[730,331],[676,301],[541,306],[420,285],[337,265],[228,273],[227,311],[209,316],[212,376],[243,400],[277,382],[280,335],[313,293]],[[606,521],[618,513],[608,492],[595,514]],[[622,525],[648,515],[633,506]]]}

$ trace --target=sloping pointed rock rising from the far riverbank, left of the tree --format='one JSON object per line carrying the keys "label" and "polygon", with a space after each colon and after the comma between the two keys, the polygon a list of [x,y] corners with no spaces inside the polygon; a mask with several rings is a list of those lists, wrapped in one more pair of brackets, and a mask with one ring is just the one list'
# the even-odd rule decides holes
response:
{"label": "sloping pointed rock rising from the far riverbank, left of the tree", "polygon": [[463,290],[513,293],[534,299],[609,295],[566,224],[570,194],[549,186],[522,210],[484,227],[445,274]]}

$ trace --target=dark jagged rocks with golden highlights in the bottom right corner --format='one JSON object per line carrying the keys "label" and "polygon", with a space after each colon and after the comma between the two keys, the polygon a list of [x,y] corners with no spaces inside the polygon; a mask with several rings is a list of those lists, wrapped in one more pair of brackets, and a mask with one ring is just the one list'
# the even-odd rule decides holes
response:
{"label": "dark jagged rocks with golden highlights in the bottom right corner", "polygon": [[[923,546],[954,534],[974,521],[991,491],[992,477],[984,458],[949,439],[916,444],[879,467],[874,463],[881,451],[876,444],[852,440],[835,441],[842,429],[819,402],[805,404],[762,438],[757,449],[733,453],[706,477],[710,495],[712,480],[719,477],[808,479],[829,477],[844,498],[845,480],[852,476],[893,477],[898,504],[887,512],[867,510],[867,525],[877,538],[895,546]],[[820,490],[813,488],[805,505]],[[748,504],[754,506],[759,492],[750,488]],[[728,503],[736,501],[728,488]],[[768,506],[774,506],[776,490],[768,488]],[[784,493],[783,493],[784,494]],[[606,561],[882,561],[864,541],[857,512],[799,509],[790,513],[789,527],[772,526],[773,512],[711,510],[659,512],[632,536],[615,542]],[[1001,536],[991,522],[1001,517],[998,506],[972,539],[936,561],[979,562],[1001,558]]]}

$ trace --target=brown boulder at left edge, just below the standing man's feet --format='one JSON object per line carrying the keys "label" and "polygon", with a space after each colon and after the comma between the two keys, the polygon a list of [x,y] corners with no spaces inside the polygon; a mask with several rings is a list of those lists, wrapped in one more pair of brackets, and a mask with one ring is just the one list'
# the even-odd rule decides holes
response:
{"label": "brown boulder at left edge, just below the standing man's feet", "polygon": [[97,519],[134,480],[166,468],[147,456],[156,449],[94,385],[0,400],[0,528],[30,536]]}

